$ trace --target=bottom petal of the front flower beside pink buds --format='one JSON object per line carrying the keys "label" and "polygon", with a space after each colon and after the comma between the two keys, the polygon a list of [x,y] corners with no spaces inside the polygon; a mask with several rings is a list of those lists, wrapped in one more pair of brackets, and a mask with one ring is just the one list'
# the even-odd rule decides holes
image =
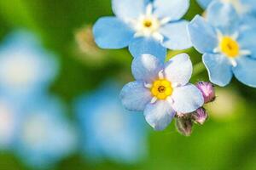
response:
{"label": "bottom petal of the front flower beside pink buds", "polygon": [[172,106],[166,100],[158,100],[154,104],[149,103],[144,111],[148,124],[154,130],[164,130],[175,116]]}

